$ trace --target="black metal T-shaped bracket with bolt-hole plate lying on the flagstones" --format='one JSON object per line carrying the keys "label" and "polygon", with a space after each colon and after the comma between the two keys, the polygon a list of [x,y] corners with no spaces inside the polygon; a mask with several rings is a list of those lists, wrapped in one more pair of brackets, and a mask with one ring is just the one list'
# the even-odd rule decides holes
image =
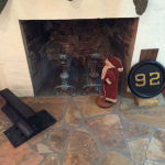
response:
{"label": "black metal T-shaped bracket with bolt-hole plate lying on the flagstones", "polygon": [[4,134],[14,147],[57,122],[46,110],[35,113],[9,89],[1,90],[0,95],[7,101],[1,110],[13,122]]}

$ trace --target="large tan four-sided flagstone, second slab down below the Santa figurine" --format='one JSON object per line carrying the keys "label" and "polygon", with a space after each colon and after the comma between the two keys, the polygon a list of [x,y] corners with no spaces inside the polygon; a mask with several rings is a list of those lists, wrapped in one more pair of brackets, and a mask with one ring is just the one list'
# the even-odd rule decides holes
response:
{"label": "large tan four-sided flagstone, second slab down below the Santa figurine", "polygon": [[85,123],[103,147],[110,150],[125,147],[121,122],[117,114],[97,117],[85,121]]}

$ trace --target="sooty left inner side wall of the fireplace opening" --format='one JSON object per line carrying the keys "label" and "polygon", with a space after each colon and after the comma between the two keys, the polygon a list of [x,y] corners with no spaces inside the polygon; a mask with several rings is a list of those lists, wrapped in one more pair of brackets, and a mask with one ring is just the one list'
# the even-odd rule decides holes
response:
{"label": "sooty left inner side wall of the fireplace opening", "polygon": [[45,53],[50,31],[46,21],[20,21],[20,25],[35,95],[52,70]]}

